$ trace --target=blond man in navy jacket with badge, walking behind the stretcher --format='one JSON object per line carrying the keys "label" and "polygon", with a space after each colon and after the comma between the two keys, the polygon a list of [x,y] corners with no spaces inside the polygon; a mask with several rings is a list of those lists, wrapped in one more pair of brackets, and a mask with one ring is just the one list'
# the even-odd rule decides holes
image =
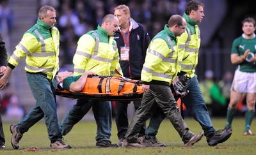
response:
{"label": "blond man in navy jacket with badge, walking behind the stretcher", "polygon": [[[141,70],[145,62],[146,52],[150,38],[146,29],[131,18],[129,7],[119,5],[115,8],[114,15],[119,19],[118,31],[115,34],[115,41],[120,55],[120,66],[124,77],[140,80]],[[127,107],[129,101],[116,101],[116,127],[119,139],[118,145],[122,145],[129,122],[127,118]],[[133,101],[135,110],[140,106],[141,101]],[[138,140],[145,135],[145,126],[141,128]]]}

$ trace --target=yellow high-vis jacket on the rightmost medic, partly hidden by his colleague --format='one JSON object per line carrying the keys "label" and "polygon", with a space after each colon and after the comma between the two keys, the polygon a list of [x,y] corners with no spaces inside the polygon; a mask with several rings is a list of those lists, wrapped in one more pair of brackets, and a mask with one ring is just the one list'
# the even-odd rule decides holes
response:
{"label": "yellow high-vis jacket on the rightmost medic, partly hidden by his colleague", "polygon": [[177,37],[179,54],[183,55],[181,71],[187,73],[189,78],[195,76],[195,67],[198,64],[198,52],[200,47],[200,29],[196,22],[184,13],[183,17],[187,21],[185,33]]}

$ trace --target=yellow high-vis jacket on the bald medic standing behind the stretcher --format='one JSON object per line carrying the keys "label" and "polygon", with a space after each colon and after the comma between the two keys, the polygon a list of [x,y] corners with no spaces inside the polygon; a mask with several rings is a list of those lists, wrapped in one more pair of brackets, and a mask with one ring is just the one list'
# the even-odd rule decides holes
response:
{"label": "yellow high-vis jacket on the bald medic standing behind the stretcher", "polygon": [[115,69],[122,75],[116,41],[100,26],[79,38],[73,63],[74,75],[91,70],[98,75],[118,76]]}

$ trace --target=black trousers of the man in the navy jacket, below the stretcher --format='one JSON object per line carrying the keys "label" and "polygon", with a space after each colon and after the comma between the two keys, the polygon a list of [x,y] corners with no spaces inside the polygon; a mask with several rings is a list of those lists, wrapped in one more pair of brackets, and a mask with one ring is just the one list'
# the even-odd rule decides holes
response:
{"label": "black trousers of the man in the navy jacket, below the stretcher", "polygon": [[[127,117],[127,107],[130,101],[116,101],[116,128],[118,139],[124,138],[127,132],[129,122]],[[133,101],[135,110],[140,107],[141,101]],[[143,127],[140,129],[138,137],[145,135],[146,122],[144,122]]]}

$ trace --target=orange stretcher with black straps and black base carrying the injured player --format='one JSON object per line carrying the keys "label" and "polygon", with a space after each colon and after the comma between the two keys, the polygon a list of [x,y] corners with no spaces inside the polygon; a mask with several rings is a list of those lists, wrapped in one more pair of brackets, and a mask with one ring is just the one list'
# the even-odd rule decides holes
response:
{"label": "orange stretcher with black straps and black base carrying the injured player", "polygon": [[86,79],[81,92],[57,89],[56,95],[66,98],[86,98],[103,101],[141,100],[143,96],[140,80],[111,76],[93,76]]}

